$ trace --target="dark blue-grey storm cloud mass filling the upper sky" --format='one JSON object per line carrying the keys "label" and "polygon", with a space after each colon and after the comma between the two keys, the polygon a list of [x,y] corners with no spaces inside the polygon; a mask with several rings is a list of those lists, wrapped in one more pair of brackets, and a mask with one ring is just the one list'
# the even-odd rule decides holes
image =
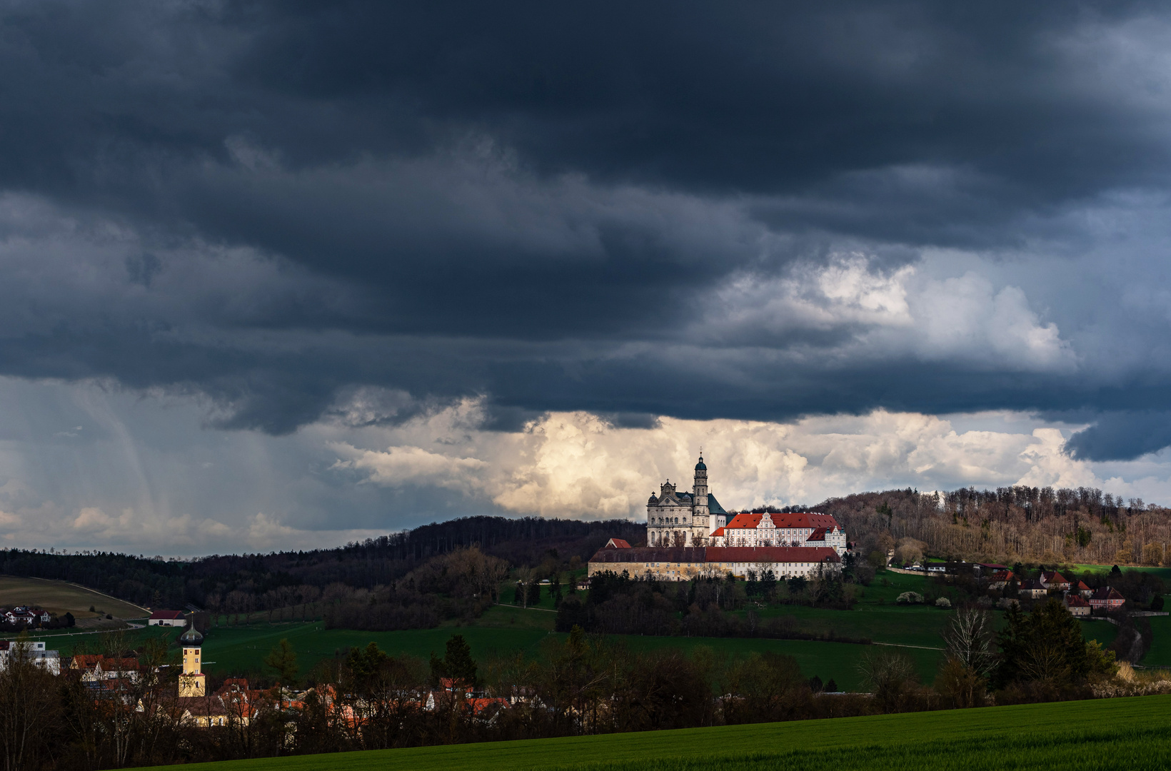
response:
{"label": "dark blue-grey storm cloud mass filling the upper sky", "polygon": [[[1157,68],[1130,56],[1166,23],[1141,4],[7,5],[0,188],[50,213],[5,219],[0,372],[203,394],[215,425],[272,433],[364,387],[408,394],[370,425],[465,395],[499,428],[1109,408],[1067,364],[1127,324],[1089,311],[1052,366],[1027,347],[1048,317],[999,295],[1025,340],[999,364],[965,342],[995,318],[943,352],[931,329],[863,340],[879,305],[889,329],[949,323],[897,297],[719,319],[761,302],[737,282],[843,250],[875,281],[927,247],[1078,254],[1080,207],[1166,187]],[[1038,308],[1093,305],[1078,291]],[[1118,449],[1108,424],[1078,453],[1163,441]]]}

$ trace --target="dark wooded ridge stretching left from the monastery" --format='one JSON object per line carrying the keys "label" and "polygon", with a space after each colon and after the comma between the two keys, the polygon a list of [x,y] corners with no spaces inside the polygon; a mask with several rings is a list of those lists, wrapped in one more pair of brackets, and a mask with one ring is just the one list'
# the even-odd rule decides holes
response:
{"label": "dark wooded ridge stretching left from the monastery", "polygon": [[[358,628],[425,628],[441,618],[474,614],[482,601],[478,571],[494,569],[470,567],[466,559],[452,565],[453,553],[474,545],[506,566],[539,565],[550,555],[580,564],[611,537],[638,541],[644,528],[624,519],[475,516],[336,549],[190,560],[11,549],[0,550],[0,573],[68,580],[146,607],[193,605],[217,617],[300,606],[302,613],[321,610],[327,620],[347,619]],[[473,593],[479,597],[468,597]],[[374,610],[352,613],[371,600]]]}

